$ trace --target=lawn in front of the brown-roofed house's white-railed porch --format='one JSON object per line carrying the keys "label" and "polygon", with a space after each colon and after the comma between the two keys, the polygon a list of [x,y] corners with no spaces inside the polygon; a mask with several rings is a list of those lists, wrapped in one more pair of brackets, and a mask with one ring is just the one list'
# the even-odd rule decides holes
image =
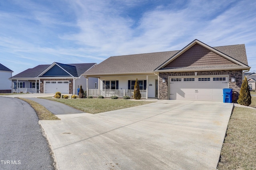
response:
{"label": "lawn in front of the brown-roofed house's white-railed porch", "polygon": [[52,97],[40,97],[52,101],[58,101],[86,113],[102,113],[128,107],[145,105],[154,101],[130,101],[124,99],[53,99]]}

